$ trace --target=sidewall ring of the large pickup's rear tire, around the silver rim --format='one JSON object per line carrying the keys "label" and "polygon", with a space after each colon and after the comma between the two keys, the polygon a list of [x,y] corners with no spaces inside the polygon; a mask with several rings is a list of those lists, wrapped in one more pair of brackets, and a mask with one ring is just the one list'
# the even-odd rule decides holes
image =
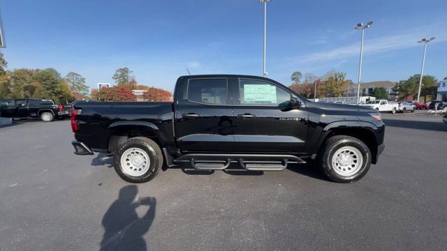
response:
{"label": "sidewall ring of the large pickup's rear tire, around the silver rim", "polygon": [[[149,156],[149,169],[147,169],[147,172],[145,172],[145,174],[142,174],[142,176],[131,176],[127,174],[126,172],[124,172],[124,169],[121,165],[122,154],[127,149],[131,149],[133,147],[142,149],[142,151],[145,151]],[[127,142],[119,146],[119,149],[114,153],[114,162],[114,167],[117,174],[122,179],[124,179],[124,181],[128,181],[131,183],[143,183],[149,181],[154,178],[154,176],[156,176],[156,174],[159,172],[159,155],[156,149],[154,149],[154,147],[151,146],[148,142],[145,142],[141,139],[129,139]]]}

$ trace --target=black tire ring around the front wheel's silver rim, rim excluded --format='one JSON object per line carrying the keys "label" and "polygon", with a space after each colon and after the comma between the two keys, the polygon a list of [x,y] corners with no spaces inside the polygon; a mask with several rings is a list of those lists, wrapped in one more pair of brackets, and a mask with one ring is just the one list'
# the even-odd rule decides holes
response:
{"label": "black tire ring around the front wheel's silver rim, rim excluded", "polygon": [[[363,163],[360,170],[351,176],[342,176],[335,172],[334,167],[332,167],[332,157],[337,152],[338,149],[343,146],[353,146],[360,153],[362,153]],[[367,174],[369,166],[371,165],[371,153],[365,144],[360,142],[358,139],[342,139],[339,142],[336,142],[332,148],[323,155],[323,171],[327,176],[329,176],[332,181],[340,182],[340,183],[352,183],[358,181],[360,178]]]}

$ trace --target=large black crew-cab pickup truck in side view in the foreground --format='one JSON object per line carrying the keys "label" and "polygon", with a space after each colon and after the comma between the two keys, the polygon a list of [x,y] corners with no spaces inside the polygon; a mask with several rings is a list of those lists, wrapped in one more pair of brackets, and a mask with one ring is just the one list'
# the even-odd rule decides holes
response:
{"label": "large black crew-cab pickup truck in side view in the foreground", "polygon": [[311,102],[264,77],[193,75],[174,102],[76,102],[75,154],[113,153],[125,181],[149,181],[167,166],[283,170],[313,162],[332,181],[365,176],[384,149],[385,126],[369,107]]}

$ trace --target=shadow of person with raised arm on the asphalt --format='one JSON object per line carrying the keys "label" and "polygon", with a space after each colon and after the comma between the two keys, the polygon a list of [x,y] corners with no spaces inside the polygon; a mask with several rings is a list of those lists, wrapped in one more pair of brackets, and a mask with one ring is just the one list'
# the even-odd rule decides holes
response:
{"label": "shadow of person with raised arm on the asphalt", "polygon": [[[100,250],[147,250],[142,237],[151,227],[155,218],[156,199],[140,198],[136,185],[127,185],[119,190],[119,197],[105,212],[102,225],[105,229]],[[142,218],[138,218],[136,208],[149,206]]]}

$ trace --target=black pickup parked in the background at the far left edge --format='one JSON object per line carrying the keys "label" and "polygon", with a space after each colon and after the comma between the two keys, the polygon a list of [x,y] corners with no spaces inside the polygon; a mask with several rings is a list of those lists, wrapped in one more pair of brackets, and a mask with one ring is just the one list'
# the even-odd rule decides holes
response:
{"label": "black pickup parked in the background at the far left edge", "polygon": [[42,121],[50,122],[69,116],[69,112],[64,111],[61,105],[54,105],[52,100],[17,98],[0,102],[0,116],[14,119],[41,118]]}

